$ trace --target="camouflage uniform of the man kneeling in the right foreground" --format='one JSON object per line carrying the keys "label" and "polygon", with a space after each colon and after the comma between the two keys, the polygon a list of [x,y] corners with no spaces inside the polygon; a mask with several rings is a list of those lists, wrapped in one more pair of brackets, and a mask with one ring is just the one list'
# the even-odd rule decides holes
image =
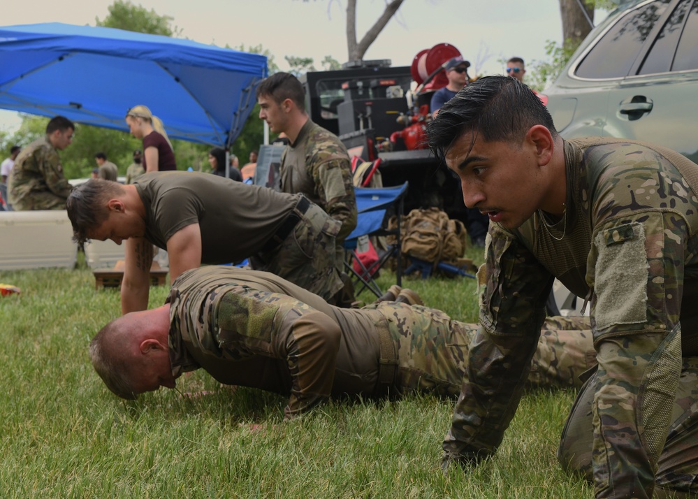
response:
{"label": "camouflage uniform of the man kneeling in the right foreground", "polygon": [[[658,463],[657,484],[695,488],[698,440],[687,423],[695,419],[696,391],[677,387],[682,369],[695,379],[687,369],[698,354],[696,313],[681,310],[682,300],[695,303],[698,294],[698,200],[678,166],[697,166],[663,147],[612,138],[572,140],[564,151],[567,202],[558,224],[546,227],[539,213],[515,231],[490,224],[479,273],[481,328],[444,440],[444,465],[477,462],[502,441],[554,276],[590,299],[599,363],[586,390],[594,396],[593,429],[591,419],[588,426],[576,421],[583,410],[573,411],[562,460],[570,460],[565,446],[574,440],[593,449],[586,465],[597,497],[652,496]],[[672,403],[681,407],[674,414]],[[669,440],[668,431],[675,433]],[[665,440],[683,451],[678,469],[673,454],[662,453]]]}

